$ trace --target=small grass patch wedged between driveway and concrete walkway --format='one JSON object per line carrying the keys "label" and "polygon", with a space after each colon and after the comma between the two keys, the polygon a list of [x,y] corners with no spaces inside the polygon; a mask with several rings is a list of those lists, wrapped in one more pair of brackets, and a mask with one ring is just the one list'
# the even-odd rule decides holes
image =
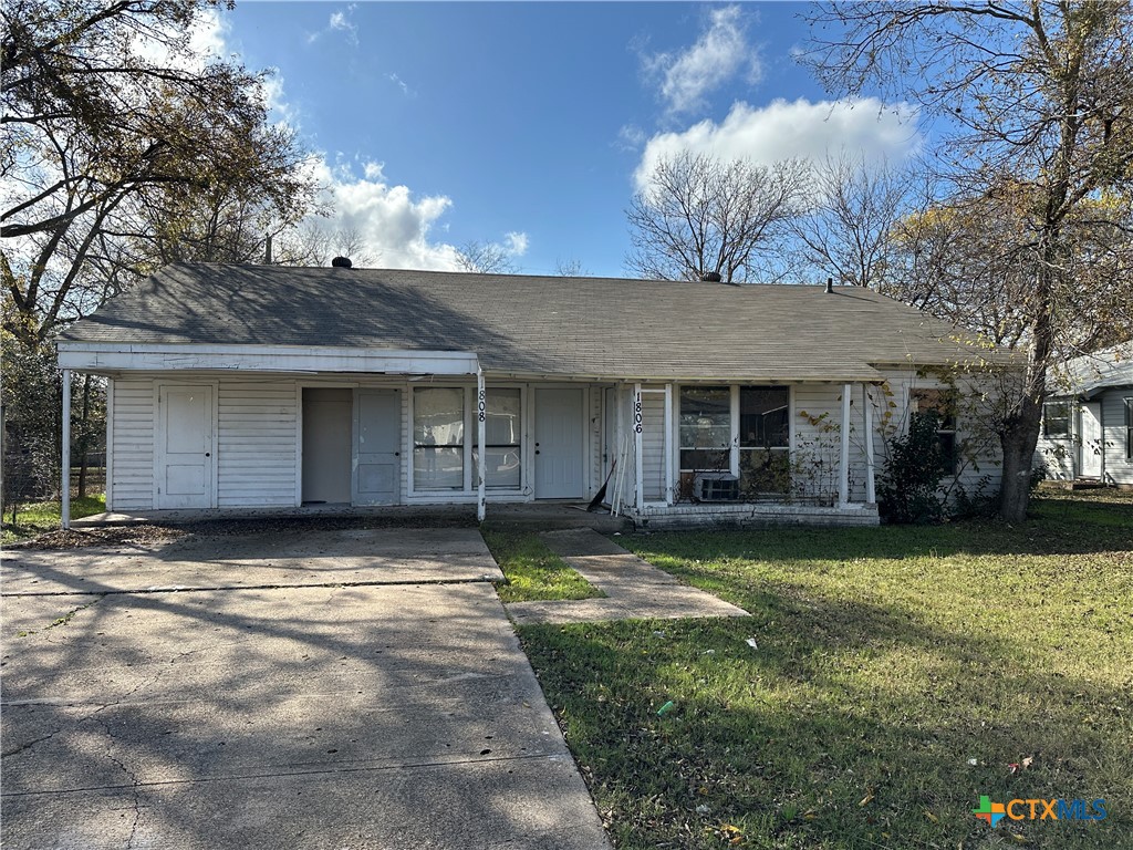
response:
{"label": "small grass patch wedged between driveway and concrete walkway", "polygon": [[484,542],[508,579],[496,589],[503,602],[587,600],[605,596],[559,555],[537,534],[503,527],[482,529]]}

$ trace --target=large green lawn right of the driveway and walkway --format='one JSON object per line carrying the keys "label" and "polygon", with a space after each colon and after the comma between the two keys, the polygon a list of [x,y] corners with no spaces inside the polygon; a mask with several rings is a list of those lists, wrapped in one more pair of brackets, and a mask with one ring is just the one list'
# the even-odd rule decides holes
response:
{"label": "large green lawn right of the driveway and walkway", "polygon": [[619,537],[752,618],[519,629],[615,845],[1133,847],[1133,494],[1033,513]]}

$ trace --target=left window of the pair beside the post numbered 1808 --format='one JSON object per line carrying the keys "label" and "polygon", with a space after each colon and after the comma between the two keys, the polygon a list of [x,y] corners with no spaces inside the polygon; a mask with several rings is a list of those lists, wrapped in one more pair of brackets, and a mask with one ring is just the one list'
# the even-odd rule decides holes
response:
{"label": "left window of the pair beside the post numbered 1808", "polygon": [[414,390],[414,488],[465,488],[465,391]]}

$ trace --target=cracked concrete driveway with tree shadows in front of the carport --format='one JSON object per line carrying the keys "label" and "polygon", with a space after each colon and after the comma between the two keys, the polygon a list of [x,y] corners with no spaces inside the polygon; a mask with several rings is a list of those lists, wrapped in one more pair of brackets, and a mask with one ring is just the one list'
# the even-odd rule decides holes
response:
{"label": "cracked concrete driveway with tree shadows in front of the carport", "polygon": [[479,535],[380,530],[6,553],[3,847],[608,847]]}

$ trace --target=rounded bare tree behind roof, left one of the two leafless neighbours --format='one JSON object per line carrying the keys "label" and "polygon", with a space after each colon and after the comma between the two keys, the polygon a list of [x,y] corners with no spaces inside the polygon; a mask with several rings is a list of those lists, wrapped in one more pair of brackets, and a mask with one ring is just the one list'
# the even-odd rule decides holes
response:
{"label": "rounded bare tree behind roof, left one of the two leafless neighbours", "polygon": [[796,160],[768,167],[687,151],[662,159],[625,211],[627,267],[658,280],[753,280],[759,249],[799,214],[806,176]]}

